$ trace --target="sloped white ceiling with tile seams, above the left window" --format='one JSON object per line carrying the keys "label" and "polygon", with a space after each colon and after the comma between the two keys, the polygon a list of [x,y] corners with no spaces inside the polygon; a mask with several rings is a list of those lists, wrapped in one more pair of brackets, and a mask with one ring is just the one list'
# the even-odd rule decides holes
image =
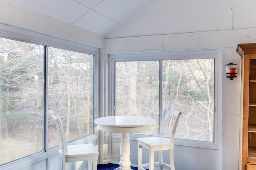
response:
{"label": "sloped white ceiling with tile seams, above the left window", "polygon": [[8,0],[100,35],[108,35],[157,0]]}

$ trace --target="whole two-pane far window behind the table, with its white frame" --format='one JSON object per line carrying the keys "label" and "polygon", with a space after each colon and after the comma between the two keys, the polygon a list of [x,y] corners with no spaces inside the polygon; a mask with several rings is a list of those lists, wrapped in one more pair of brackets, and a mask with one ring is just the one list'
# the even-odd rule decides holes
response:
{"label": "whole two-pane far window behind the table, with its white frame", "polygon": [[157,120],[163,109],[182,112],[176,138],[216,144],[218,50],[111,54],[111,111]]}

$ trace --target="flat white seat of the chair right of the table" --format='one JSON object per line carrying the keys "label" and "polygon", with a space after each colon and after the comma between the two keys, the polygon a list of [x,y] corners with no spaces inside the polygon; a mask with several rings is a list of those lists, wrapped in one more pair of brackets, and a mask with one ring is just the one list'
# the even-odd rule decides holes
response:
{"label": "flat white seat of the chair right of the table", "polygon": [[173,146],[173,143],[170,142],[170,139],[165,137],[142,137],[137,138],[137,141],[143,147],[147,148],[166,148],[170,149],[170,146]]}

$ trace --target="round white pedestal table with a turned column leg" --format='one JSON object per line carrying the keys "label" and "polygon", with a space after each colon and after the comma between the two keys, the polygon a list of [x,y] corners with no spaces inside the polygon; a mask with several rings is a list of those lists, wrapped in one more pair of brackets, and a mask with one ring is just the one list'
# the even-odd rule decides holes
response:
{"label": "round white pedestal table with a turned column leg", "polygon": [[142,116],[106,116],[94,120],[101,131],[122,133],[120,145],[120,170],[131,170],[129,133],[150,131],[155,119]]}

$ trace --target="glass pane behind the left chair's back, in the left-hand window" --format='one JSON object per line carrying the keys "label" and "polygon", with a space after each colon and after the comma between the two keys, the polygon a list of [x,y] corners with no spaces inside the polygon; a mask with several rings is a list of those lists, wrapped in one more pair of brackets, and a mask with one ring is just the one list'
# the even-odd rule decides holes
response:
{"label": "glass pane behind the left chair's back, in the left-hand window", "polygon": [[67,141],[93,133],[93,64],[92,55],[48,48],[48,147],[59,144],[54,113]]}

